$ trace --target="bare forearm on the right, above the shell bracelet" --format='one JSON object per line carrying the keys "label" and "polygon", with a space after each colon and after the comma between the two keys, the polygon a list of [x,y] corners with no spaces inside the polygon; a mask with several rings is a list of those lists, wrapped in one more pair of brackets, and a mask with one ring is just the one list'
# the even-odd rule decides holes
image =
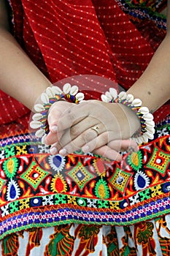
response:
{"label": "bare forearm on the right, above the shell bracelet", "polygon": [[[170,9],[168,13],[170,12]],[[170,97],[170,32],[156,50],[150,64],[134,86],[128,90],[135,98],[142,99],[144,106],[154,112]]]}

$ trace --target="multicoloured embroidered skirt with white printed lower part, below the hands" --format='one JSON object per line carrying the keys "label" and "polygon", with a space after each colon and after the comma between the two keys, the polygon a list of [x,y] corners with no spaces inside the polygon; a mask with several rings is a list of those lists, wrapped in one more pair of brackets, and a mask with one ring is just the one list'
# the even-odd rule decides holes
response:
{"label": "multicoloured embroidered skirt with white printed lower part, below the hands", "polygon": [[52,156],[28,133],[1,140],[0,254],[168,255],[169,120],[122,162]]}

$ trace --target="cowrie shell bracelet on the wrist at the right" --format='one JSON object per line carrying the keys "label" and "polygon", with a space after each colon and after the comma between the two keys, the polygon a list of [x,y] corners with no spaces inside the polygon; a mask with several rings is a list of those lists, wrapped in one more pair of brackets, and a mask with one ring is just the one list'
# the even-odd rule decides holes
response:
{"label": "cowrie shell bracelet on the wrist at the right", "polygon": [[148,140],[154,138],[155,133],[155,122],[153,121],[153,116],[147,107],[142,107],[141,99],[134,99],[132,94],[126,94],[125,91],[121,91],[117,94],[117,91],[110,88],[105,94],[101,95],[101,100],[103,102],[110,103],[121,103],[131,108],[136,115],[139,117],[141,123],[140,135],[133,135],[132,139],[138,144],[147,143]]}

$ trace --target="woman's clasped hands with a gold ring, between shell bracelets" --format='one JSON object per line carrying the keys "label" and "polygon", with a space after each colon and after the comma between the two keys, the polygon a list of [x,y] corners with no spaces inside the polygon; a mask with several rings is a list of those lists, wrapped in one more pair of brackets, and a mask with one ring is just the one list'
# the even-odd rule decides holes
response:
{"label": "woman's clasped hands with a gold ring, between shell bracelets", "polygon": [[67,154],[82,149],[84,153],[122,159],[120,151],[138,151],[131,135],[140,127],[131,109],[118,103],[88,100],[79,105],[55,102],[48,114],[50,132],[46,143],[51,154]]}

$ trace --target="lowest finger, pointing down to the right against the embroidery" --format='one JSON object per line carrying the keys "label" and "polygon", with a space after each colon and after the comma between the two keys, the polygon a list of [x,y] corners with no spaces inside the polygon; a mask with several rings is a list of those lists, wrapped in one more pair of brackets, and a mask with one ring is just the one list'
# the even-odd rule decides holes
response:
{"label": "lowest finger, pointing down to the right against the embroidery", "polygon": [[122,160],[121,154],[115,151],[114,149],[109,148],[109,146],[102,146],[101,148],[97,148],[93,152],[95,154],[101,155],[102,157],[107,157],[111,160],[116,160],[118,162]]}

